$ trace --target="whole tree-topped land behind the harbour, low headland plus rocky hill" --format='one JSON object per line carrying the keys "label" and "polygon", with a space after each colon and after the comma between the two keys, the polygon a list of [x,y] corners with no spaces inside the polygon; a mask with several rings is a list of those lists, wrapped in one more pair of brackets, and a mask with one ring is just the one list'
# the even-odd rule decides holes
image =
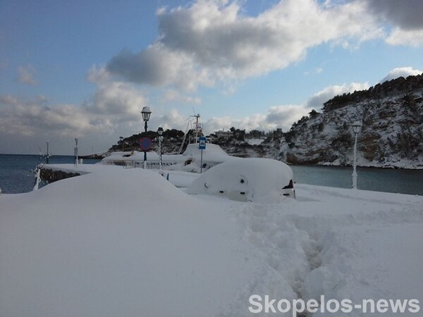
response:
{"label": "whole tree-topped land behind the harbour, low headland plus rocky hill", "polygon": [[[280,128],[270,132],[231,128],[231,137],[212,134],[209,139],[234,156],[348,166],[353,163],[354,145],[350,125],[359,120],[359,166],[423,168],[423,75],[399,77],[367,90],[336,96],[320,111],[311,111],[288,132]],[[139,149],[138,141],[145,136],[153,139],[153,149],[158,151],[155,131],[123,138],[109,151]],[[185,138],[185,147],[191,137],[192,130]],[[178,153],[183,141],[184,132],[166,130],[163,153]]]}

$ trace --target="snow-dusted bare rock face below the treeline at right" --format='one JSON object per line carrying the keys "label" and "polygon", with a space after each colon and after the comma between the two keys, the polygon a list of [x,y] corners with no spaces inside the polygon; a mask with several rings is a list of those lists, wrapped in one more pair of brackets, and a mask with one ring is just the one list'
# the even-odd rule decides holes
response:
{"label": "snow-dusted bare rock face below the treeline at right", "polygon": [[[360,120],[363,125],[357,138],[357,166],[423,169],[418,137],[423,123],[417,119],[422,113],[422,92],[406,90],[392,89],[383,98],[351,101],[303,121],[293,131],[295,146],[288,149],[288,156],[303,164],[352,165],[353,144],[334,141],[345,134],[353,140],[350,124]],[[405,96],[412,100],[412,106],[405,102]]]}

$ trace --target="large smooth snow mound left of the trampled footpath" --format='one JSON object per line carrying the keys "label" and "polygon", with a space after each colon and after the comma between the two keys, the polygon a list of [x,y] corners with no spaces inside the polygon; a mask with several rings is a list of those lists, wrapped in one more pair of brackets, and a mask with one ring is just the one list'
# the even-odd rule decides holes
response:
{"label": "large smooth snow mound left of the trampled footpath", "polygon": [[1,195],[0,316],[217,316],[260,267],[247,254],[224,210],[104,169]]}

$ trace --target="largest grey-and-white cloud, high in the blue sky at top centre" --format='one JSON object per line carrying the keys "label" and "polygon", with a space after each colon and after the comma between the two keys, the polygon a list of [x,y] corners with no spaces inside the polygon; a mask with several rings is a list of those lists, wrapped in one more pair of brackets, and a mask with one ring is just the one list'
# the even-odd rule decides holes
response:
{"label": "largest grey-and-white cloud, high in the blue sky at top centre", "polygon": [[161,8],[157,42],[136,54],[122,51],[106,69],[132,82],[188,91],[264,75],[300,61],[312,46],[380,37],[365,8],[361,1],[285,0],[256,17],[243,15],[239,1]]}

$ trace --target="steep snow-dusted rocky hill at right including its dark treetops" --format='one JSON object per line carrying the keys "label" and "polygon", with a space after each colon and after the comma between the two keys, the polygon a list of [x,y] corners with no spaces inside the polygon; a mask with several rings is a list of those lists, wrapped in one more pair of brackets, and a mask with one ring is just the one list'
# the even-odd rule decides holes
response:
{"label": "steep snow-dusted rocky hill at right including its dark treetops", "polygon": [[295,123],[286,142],[289,163],[350,165],[354,135],[361,166],[423,168],[423,76],[400,77],[327,101]]}

